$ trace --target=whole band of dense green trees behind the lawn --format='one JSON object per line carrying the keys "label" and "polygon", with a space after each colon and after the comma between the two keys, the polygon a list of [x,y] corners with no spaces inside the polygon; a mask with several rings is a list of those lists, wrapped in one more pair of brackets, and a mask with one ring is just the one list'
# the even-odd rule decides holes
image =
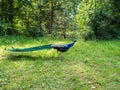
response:
{"label": "whole band of dense green trees behind the lawn", "polygon": [[120,0],[1,0],[0,35],[120,39]]}

